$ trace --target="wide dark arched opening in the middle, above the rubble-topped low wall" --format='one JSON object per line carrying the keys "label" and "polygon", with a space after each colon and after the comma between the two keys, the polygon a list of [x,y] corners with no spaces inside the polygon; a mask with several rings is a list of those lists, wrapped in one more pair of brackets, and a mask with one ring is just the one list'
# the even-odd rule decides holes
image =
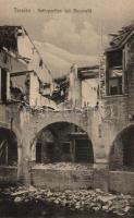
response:
{"label": "wide dark arched opening in the middle, above the rubble-topped low wall", "polygon": [[42,129],[36,140],[36,162],[94,164],[93,144],[87,133],[69,122]]}

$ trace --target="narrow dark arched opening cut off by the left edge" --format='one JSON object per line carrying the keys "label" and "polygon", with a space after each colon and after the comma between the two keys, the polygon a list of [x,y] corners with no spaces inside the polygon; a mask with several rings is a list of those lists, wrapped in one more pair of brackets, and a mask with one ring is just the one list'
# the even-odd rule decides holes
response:
{"label": "narrow dark arched opening cut off by the left edge", "polygon": [[13,131],[0,128],[0,166],[17,165],[17,140]]}

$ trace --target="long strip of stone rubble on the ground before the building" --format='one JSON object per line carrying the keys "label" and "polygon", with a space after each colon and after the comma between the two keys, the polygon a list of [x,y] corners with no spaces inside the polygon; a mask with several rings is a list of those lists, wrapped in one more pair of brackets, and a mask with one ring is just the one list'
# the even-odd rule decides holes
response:
{"label": "long strip of stone rubble on the ground before the building", "polygon": [[4,192],[14,201],[15,204],[28,202],[45,202],[59,208],[69,208],[74,211],[103,211],[112,213],[118,216],[130,216],[134,208],[134,197],[130,195],[113,195],[103,193],[100,190],[66,190],[53,192],[50,190],[36,189],[31,186],[9,187]]}

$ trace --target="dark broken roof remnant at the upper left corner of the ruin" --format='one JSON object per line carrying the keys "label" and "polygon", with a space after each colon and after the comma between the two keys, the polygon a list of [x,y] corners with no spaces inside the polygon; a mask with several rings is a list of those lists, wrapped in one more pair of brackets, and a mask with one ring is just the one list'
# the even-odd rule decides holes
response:
{"label": "dark broken roof remnant at the upper left corner of the ruin", "polygon": [[17,51],[17,36],[27,34],[23,26],[0,26],[0,48]]}

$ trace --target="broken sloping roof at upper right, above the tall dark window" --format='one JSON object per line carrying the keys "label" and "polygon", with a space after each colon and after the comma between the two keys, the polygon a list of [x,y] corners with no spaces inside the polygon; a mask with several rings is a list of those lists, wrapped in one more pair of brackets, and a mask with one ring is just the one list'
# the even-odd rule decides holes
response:
{"label": "broken sloping roof at upper right, above the tall dark window", "polygon": [[122,29],[120,29],[117,34],[109,35],[112,36],[112,39],[109,43],[110,47],[106,49],[106,51],[122,48],[130,39],[130,37],[134,35],[134,23],[127,26],[123,26]]}

